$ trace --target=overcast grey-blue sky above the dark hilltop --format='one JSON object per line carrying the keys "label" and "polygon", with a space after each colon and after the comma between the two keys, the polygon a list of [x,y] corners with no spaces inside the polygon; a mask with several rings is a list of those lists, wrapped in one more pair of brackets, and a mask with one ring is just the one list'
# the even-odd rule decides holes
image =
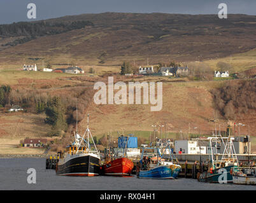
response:
{"label": "overcast grey-blue sky above the dark hilltop", "polygon": [[0,0],[0,24],[31,21],[27,4],[36,4],[36,19],[83,13],[183,13],[216,14],[227,4],[227,14],[256,15],[256,0]]}

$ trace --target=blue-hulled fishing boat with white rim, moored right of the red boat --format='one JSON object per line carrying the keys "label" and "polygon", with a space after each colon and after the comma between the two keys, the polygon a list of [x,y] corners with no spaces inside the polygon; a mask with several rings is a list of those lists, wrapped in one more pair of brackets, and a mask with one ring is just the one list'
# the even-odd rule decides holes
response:
{"label": "blue-hulled fishing boat with white rim, moored right of the red boat", "polygon": [[[136,168],[137,178],[153,178],[153,179],[174,179],[178,178],[178,173],[180,172],[181,166],[174,164],[173,160],[176,159],[171,152],[169,145],[170,159],[162,159],[159,148],[157,147],[143,147],[141,154],[141,160]],[[146,154],[146,150],[157,151],[155,154]],[[164,150],[165,152],[166,150]]]}

